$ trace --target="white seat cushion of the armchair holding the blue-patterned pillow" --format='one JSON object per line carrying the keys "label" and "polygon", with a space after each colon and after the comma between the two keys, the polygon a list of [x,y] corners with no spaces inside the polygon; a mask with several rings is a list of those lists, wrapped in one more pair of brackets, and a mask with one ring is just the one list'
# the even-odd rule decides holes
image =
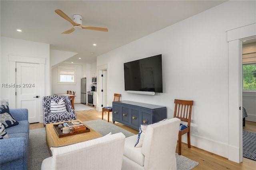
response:
{"label": "white seat cushion of the armchair holding the blue-patterned pillow", "polygon": [[141,153],[142,148],[134,147],[134,143],[137,140],[137,136],[138,135],[133,135],[125,139],[124,156],[138,163],[140,166],[144,166],[144,155]]}

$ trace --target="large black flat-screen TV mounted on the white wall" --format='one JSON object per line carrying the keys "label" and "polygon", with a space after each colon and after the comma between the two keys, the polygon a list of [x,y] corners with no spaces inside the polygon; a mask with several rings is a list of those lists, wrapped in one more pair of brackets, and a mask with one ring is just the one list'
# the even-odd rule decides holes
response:
{"label": "large black flat-screen TV mounted on the white wall", "polygon": [[124,63],[124,90],[162,93],[162,55]]}

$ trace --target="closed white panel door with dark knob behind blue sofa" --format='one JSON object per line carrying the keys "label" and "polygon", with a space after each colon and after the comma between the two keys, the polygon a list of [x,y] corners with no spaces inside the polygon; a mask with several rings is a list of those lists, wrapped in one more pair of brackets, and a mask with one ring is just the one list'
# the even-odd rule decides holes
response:
{"label": "closed white panel door with dark knob behind blue sofa", "polygon": [[16,108],[28,109],[28,121],[40,120],[40,65],[16,63]]}

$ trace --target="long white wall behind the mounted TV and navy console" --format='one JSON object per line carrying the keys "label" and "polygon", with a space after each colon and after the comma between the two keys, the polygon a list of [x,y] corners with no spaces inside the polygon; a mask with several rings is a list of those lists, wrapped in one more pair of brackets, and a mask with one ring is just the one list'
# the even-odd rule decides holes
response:
{"label": "long white wall behind the mounted TV and navy console", "polygon": [[[192,145],[228,157],[226,30],[255,23],[255,12],[255,1],[228,1],[97,57],[98,66],[109,64],[108,105],[113,94],[120,93],[122,100],[166,106],[172,118],[174,99],[194,100]],[[163,93],[125,92],[123,63],[158,54],[162,54]]]}

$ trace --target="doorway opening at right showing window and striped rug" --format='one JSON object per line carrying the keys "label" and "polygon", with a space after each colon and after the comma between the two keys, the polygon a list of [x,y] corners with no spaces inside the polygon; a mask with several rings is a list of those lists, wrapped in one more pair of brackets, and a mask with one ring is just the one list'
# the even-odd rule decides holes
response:
{"label": "doorway opening at right showing window and striped rug", "polygon": [[[242,116],[243,135],[256,133],[256,37],[242,39]],[[248,138],[242,138],[243,157],[251,158],[246,149],[250,145]],[[256,146],[255,146],[256,147]],[[244,154],[247,153],[247,154]],[[248,155],[249,154],[249,155]]]}

